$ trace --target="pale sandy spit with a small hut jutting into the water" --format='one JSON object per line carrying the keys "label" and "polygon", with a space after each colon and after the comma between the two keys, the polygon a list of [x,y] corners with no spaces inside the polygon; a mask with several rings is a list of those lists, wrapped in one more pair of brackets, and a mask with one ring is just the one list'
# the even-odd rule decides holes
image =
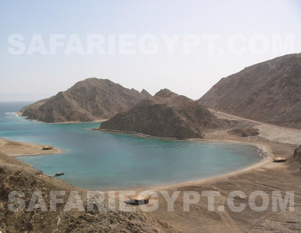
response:
{"label": "pale sandy spit with a small hut jutting into the water", "polygon": [[52,148],[52,150],[42,150],[43,146],[46,145],[29,142],[17,142],[0,137],[0,151],[10,156],[58,154],[63,152],[58,148]]}

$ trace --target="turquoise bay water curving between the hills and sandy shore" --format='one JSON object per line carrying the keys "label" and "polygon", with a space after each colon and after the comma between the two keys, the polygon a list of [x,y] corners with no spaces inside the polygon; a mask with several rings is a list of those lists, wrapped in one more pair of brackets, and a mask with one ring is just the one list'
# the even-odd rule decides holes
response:
{"label": "turquoise bay water curving between the hills and sandy shore", "polygon": [[17,157],[47,175],[87,189],[115,189],[193,181],[262,160],[250,145],[171,141],[90,130],[100,123],[46,124],[13,112],[29,103],[0,102],[0,137],[50,144],[63,154]]}

